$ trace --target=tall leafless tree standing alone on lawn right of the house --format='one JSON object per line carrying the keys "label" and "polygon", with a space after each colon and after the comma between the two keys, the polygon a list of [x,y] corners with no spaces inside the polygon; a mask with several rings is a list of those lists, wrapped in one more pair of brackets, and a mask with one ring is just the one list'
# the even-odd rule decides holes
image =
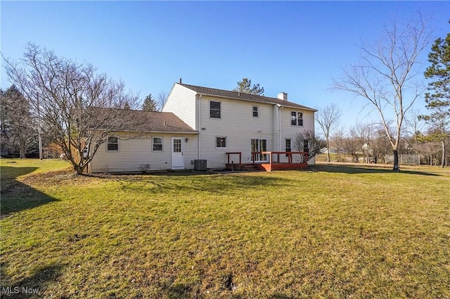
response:
{"label": "tall leafless tree standing alone on lawn right of the house", "polygon": [[[419,70],[418,56],[430,42],[421,15],[403,27],[394,21],[372,46],[361,46],[362,62],[345,70],[335,80],[335,89],[349,91],[373,106],[380,115],[385,134],[394,151],[394,168],[399,170],[398,148],[406,112],[423,94],[423,84],[414,82]],[[396,129],[390,132],[388,119],[394,117]]]}

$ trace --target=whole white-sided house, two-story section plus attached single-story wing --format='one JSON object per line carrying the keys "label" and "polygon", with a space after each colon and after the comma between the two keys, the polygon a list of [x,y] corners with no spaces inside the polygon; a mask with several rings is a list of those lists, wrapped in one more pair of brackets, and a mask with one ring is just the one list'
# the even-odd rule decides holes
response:
{"label": "whole white-sided house, two-story section plus attached single-story wing", "polygon": [[[162,113],[140,112],[149,122],[140,129],[141,136],[129,138],[126,132],[111,136],[117,146],[105,144],[90,171],[131,172],[145,165],[149,170],[193,169],[195,160],[205,160],[208,168],[264,163],[271,155],[262,152],[295,151],[297,133],[314,132],[314,112],[288,101],[285,93],[272,98],[175,83]],[[166,123],[177,125],[161,127],[165,117]],[[287,156],[278,154],[277,162],[302,162],[300,155]]]}

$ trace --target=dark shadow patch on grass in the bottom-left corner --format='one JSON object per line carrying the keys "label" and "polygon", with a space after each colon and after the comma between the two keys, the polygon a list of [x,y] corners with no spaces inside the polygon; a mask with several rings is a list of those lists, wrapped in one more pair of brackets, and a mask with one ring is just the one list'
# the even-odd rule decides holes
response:
{"label": "dark shadow patch on grass in the bottom-left corner", "polygon": [[58,279],[62,268],[61,265],[41,267],[32,276],[13,283],[4,273],[5,265],[1,265],[1,298],[43,298],[44,289],[50,282]]}

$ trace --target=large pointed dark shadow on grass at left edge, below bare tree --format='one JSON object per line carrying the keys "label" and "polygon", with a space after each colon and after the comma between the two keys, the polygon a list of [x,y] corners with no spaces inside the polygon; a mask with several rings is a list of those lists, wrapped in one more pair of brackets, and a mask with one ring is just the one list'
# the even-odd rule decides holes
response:
{"label": "large pointed dark shadow on grass at left edge, below bare tree", "polygon": [[4,217],[13,212],[20,212],[36,208],[39,205],[57,201],[51,196],[18,181],[21,175],[29,174],[37,170],[37,167],[10,167],[1,166],[1,202],[0,214]]}

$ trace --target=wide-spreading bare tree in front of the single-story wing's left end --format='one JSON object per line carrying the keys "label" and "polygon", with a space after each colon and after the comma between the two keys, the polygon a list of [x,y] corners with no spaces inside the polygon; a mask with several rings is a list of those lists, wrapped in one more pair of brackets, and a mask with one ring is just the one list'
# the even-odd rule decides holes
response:
{"label": "wide-spreading bare tree in front of the single-story wing's left end", "polygon": [[[6,73],[30,100],[43,131],[60,146],[77,174],[82,174],[111,132],[132,125],[137,97],[86,63],[28,44],[20,62],[6,61]],[[85,153],[89,153],[86,155]]]}

